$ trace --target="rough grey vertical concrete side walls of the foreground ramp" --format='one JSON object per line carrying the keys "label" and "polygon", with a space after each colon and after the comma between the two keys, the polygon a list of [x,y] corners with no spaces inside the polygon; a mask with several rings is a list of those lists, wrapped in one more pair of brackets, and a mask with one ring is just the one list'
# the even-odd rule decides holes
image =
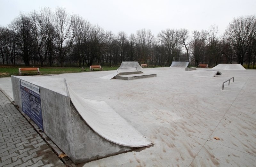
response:
{"label": "rough grey vertical concrete side walls of the foreground ramp", "polygon": [[[22,108],[19,76],[12,76],[13,100]],[[25,80],[24,77],[21,78]],[[34,83],[33,83],[34,84]],[[36,85],[36,84],[34,84]],[[38,84],[44,133],[74,163],[116,155],[134,148],[112,143],[95,133],[72,106],[70,97]]]}

